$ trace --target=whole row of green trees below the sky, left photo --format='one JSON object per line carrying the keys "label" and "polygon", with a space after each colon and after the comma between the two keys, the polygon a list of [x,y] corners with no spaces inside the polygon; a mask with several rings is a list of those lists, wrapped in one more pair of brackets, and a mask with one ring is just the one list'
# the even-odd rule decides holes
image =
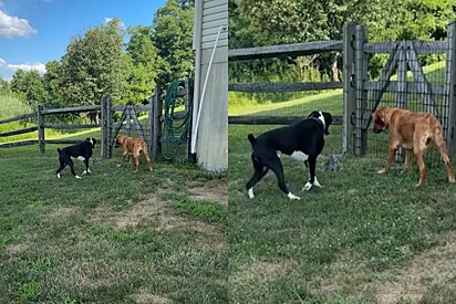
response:
{"label": "whole row of green trees below the sky, left photo", "polygon": [[[10,82],[0,77],[0,95],[13,95],[32,108],[99,104],[139,104],[155,85],[194,73],[194,0],[167,0],[151,25],[123,28],[120,19],[71,38],[60,60],[37,70],[18,70]],[[125,42],[126,41],[126,42]]]}

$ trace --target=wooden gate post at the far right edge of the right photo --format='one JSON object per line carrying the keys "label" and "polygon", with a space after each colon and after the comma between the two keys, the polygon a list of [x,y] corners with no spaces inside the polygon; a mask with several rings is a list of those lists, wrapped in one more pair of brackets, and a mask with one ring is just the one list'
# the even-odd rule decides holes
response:
{"label": "wooden gate post at the far right edge of the right photo", "polygon": [[[448,24],[447,30],[447,42],[448,49],[446,54],[446,96],[447,96],[447,106],[444,107],[448,111],[447,115],[443,117],[448,117],[448,126],[446,129],[446,140],[449,154],[452,156],[456,155],[456,22],[453,21]],[[444,126],[445,127],[445,126]]]}

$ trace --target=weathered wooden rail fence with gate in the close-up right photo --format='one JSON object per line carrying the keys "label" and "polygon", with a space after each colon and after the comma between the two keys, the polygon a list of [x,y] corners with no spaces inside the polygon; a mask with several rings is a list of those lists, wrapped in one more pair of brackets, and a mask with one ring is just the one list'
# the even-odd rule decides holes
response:
{"label": "weathered wooden rail fence with gate in the close-up right photo", "polygon": [[[284,93],[300,91],[343,88],[343,115],[334,117],[342,125],[342,151],[362,156],[367,150],[367,129],[371,114],[385,103],[384,93],[396,95],[393,106],[407,108],[407,95],[422,99],[424,111],[436,115],[445,128],[449,150],[456,154],[456,23],[448,25],[445,41],[384,41],[369,43],[364,27],[346,22],[342,40],[282,44],[261,48],[230,50],[230,62],[271,57],[297,57],[299,55],[341,52],[343,55],[342,82],[325,83],[230,83],[228,90],[247,93]],[[367,57],[372,54],[390,54],[379,80],[367,75]],[[444,83],[431,83],[419,65],[417,55],[445,54]],[[414,80],[407,78],[411,72]],[[392,80],[393,74],[397,77]],[[438,96],[444,105],[436,106]],[[370,99],[371,98],[371,99]],[[411,98],[408,97],[410,103]],[[390,105],[391,106],[391,105]],[[416,111],[412,108],[412,111]],[[302,116],[229,116],[229,124],[286,125]]]}

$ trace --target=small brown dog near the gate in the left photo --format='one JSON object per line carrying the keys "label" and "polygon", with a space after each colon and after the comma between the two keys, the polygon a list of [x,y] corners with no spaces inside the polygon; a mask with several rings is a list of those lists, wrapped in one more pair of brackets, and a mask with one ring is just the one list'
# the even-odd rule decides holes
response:
{"label": "small brown dog near the gate in the left photo", "polygon": [[[122,165],[124,165],[125,157],[129,155],[129,156],[133,156],[133,158],[135,159],[135,164],[136,164],[135,172],[137,172],[139,170],[139,155],[141,153],[143,153],[147,159],[148,169],[151,171],[153,170],[152,163],[151,163],[151,156],[148,154],[148,147],[147,147],[147,144],[143,139],[133,138],[129,136],[117,136],[115,138],[114,144],[116,147],[122,146],[121,164],[118,164],[117,167],[121,167]],[[132,163],[132,158],[129,159],[129,163]]]}

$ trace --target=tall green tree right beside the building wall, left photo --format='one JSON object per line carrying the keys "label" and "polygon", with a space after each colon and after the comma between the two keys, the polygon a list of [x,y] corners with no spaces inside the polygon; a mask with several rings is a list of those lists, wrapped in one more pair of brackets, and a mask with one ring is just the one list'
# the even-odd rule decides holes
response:
{"label": "tall green tree right beside the building wall, left photo", "polygon": [[158,84],[190,77],[195,70],[193,51],[194,1],[167,0],[153,22],[153,42],[163,59]]}

